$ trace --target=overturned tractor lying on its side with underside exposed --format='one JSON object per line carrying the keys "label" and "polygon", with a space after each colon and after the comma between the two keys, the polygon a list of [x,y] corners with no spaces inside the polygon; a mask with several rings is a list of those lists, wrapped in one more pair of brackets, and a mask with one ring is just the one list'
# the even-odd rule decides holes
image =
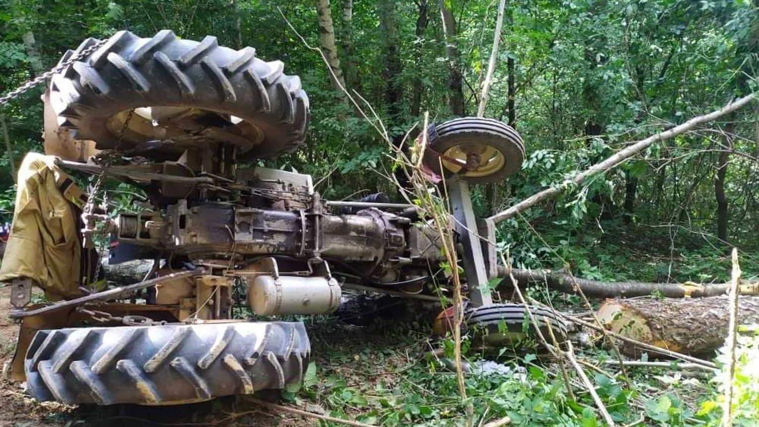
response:
{"label": "overturned tractor lying on its side with underside exposed", "polygon": [[[449,280],[417,207],[325,201],[310,176],[255,166],[306,138],[308,98],[282,62],[213,36],[122,31],[86,40],[58,68],[45,95],[48,155],[21,167],[0,272],[21,321],[11,378],[25,378],[36,399],[167,404],[281,389],[307,366],[304,324],[235,320],[235,306],[320,315],[339,307],[342,289],[433,299]],[[454,207],[469,323],[505,321],[519,334],[521,306],[493,305],[477,287],[497,266],[477,235],[493,236],[493,223],[474,217],[468,182],[517,171],[524,144],[490,119],[445,122],[429,138],[425,162]],[[65,169],[97,176],[89,195]],[[96,198],[104,179],[147,200],[109,207]],[[110,264],[152,267],[137,283],[106,286],[103,244]],[[33,286],[51,302],[31,304]]]}

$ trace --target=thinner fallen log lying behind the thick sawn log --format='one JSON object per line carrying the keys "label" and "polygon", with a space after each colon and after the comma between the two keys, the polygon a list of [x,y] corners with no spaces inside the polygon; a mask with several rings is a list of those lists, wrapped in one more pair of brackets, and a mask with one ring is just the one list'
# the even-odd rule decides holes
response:
{"label": "thinner fallen log lying behind the thick sawn log", "polygon": [[[663,296],[666,298],[700,298],[720,296],[727,293],[730,283],[646,283],[646,282],[601,282],[578,279],[563,271],[512,269],[519,286],[545,284],[550,289],[562,293],[578,293],[578,289],[589,298],[614,298],[617,296]],[[506,277],[506,268],[498,267],[498,276]],[[509,280],[505,286],[511,286]],[[759,295],[759,282],[740,284],[741,295]]]}

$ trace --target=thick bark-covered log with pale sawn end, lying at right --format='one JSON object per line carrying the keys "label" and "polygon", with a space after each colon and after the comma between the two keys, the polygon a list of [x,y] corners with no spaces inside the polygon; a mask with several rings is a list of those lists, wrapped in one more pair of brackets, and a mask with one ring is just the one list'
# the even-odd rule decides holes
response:
{"label": "thick bark-covered log with pale sawn end, lying at right", "polygon": [[[700,299],[608,299],[597,317],[607,329],[633,340],[689,355],[710,355],[725,343],[728,297]],[[759,297],[739,299],[741,324],[759,322]],[[621,343],[619,350],[640,356],[641,349]]]}

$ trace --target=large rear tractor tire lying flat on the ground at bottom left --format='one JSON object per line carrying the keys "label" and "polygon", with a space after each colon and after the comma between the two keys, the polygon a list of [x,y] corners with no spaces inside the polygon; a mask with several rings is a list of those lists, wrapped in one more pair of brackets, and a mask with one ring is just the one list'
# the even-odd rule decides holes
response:
{"label": "large rear tractor tire lying flat on the ground at bottom left", "polygon": [[301,381],[301,322],[80,327],[39,331],[24,370],[36,400],[165,405]]}

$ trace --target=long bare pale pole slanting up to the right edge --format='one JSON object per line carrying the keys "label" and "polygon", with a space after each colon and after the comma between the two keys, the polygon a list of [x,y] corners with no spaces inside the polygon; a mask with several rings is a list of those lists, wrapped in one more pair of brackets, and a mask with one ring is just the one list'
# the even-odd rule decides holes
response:
{"label": "long bare pale pole slanting up to the right edge", "polygon": [[744,96],[740,98],[739,100],[735,100],[728,103],[726,106],[723,106],[721,109],[710,112],[709,114],[699,115],[698,117],[694,117],[693,119],[688,120],[688,122],[685,122],[682,125],[677,125],[674,128],[670,128],[666,131],[660,132],[658,134],[654,134],[644,140],[636,142],[635,144],[628,145],[628,147],[625,147],[624,149],[619,150],[616,154],[614,154],[611,157],[608,157],[606,160],[596,163],[590,168],[585,169],[583,172],[578,173],[574,178],[567,179],[567,181],[565,181],[562,185],[554,185],[553,187],[546,188],[543,191],[539,191],[535,193],[534,195],[531,195],[530,197],[524,199],[523,201],[520,201],[518,204],[515,204],[512,207],[509,207],[509,209],[502,210],[501,212],[496,213],[495,215],[493,215],[492,217],[488,219],[493,220],[493,222],[495,223],[500,223],[503,220],[508,220],[509,218],[515,216],[517,213],[521,213],[524,210],[527,210],[528,208],[533,207],[535,204],[540,203],[541,201],[544,201],[548,198],[553,198],[559,195],[562,191],[564,191],[565,187],[567,187],[568,185],[580,185],[585,180],[587,180],[591,176],[596,175],[597,173],[605,172],[608,169],[612,169],[613,167],[619,166],[622,162],[624,162],[628,158],[633,157],[635,156],[635,154],[638,154],[641,151],[645,150],[646,148],[650,147],[651,144],[655,142],[666,141],[670,138],[676,137],[679,134],[690,131],[691,129],[695,128],[698,125],[702,125],[704,123],[711,122],[712,120],[719,119],[723,115],[729,114],[730,112],[734,112],[735,110],[740,109],[742,106],[745,106],[748,103],[751,103],[751,101],[753,101],[756,98],[756,96],[757,96],[757,93],[751,93],[750,95]]}

